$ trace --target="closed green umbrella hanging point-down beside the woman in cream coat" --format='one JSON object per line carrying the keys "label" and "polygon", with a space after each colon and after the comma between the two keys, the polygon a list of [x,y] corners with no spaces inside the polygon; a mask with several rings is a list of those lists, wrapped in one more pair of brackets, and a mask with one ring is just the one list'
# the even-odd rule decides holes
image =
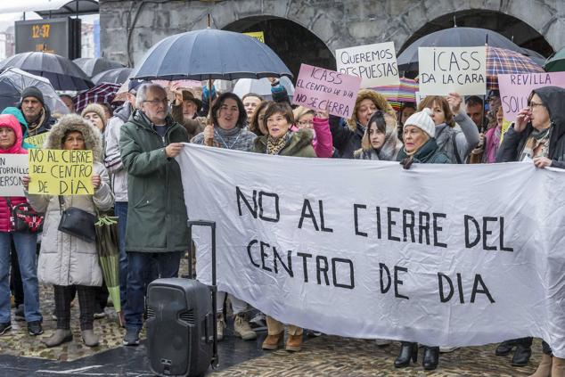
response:
{"label": "closed green umbrella hanging point-down beside the woman in cream coat", "polygon": [[[119,239],[118,217],[101,215],[94,224],[96,229],[96,249],[102,268],[102,276],[119,314],[121,303],[119,299]],[[119,316],[121,322],[121,316]]]}

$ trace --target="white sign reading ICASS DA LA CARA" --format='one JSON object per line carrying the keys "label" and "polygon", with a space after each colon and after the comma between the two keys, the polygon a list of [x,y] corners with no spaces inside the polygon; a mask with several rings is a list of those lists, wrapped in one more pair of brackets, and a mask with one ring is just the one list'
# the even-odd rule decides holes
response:
{"label": "white sign reading ICASS DA LA CARA", "polygon": [[418,47],[420,93],[487,93],[487,48]]}

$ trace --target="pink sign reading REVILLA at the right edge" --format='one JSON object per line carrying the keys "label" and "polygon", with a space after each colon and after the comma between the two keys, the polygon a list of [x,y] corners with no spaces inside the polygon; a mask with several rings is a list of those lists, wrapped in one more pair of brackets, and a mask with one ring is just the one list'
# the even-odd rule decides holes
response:
{"label": "pink sign reading REVILLA at the right edge", "polygon": [[498,75],[504,119],[513,122],[518,112],[528,107],[528,96],[532,90],[542,86],[565,88],[565,72]]}

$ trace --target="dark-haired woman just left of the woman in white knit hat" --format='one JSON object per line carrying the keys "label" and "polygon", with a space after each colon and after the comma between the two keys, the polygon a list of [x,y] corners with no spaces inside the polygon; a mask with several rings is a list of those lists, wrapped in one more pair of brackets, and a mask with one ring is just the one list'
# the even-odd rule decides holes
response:
{"label": "dark-haired woman just left of the woman in white knit hat", "polygon": [[375,111],[365,129],[361,149],[354,152],[354,157],[357,160],[396,161],[400,148],[397,121],[386,112]]}

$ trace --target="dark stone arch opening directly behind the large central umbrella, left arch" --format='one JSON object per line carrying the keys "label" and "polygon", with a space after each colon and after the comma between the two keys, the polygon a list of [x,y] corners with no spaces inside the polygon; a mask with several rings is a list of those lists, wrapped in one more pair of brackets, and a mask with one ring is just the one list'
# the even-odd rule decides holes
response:
{"label": "dark stone arch opening directly behind the large central umbrella, left arch", "polygon": [[336,69],[333,53],[323,40],[294,20],[263,14],[235,20],[222,29],[239,33],[263,31],[266,45],[279,55],[294,78],[299,75],[301,63]]}

